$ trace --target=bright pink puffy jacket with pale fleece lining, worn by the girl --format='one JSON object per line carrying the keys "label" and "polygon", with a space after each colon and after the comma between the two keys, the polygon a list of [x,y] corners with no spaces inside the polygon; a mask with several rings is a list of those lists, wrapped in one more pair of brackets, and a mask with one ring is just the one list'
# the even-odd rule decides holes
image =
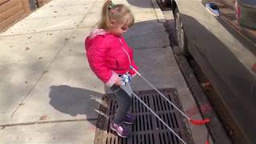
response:
{"label": "bright pink puffy jacket with pale fleece lining, worn by the girl", "polygon": [[134,63],[133,50],[127,46],[122,36],[97,29],[86,38],[85,46],[91,70],[107,86],[114,85],[118,74],[136,74],[130,69],[133,66],[138,70]]}

